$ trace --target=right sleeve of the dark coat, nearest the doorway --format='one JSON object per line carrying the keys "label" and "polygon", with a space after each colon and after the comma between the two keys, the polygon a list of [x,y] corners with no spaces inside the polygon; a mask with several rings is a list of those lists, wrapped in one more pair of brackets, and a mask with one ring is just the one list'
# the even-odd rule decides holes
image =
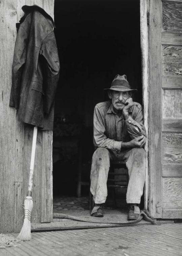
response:
{"label": "right sleeve of the dark coat, nearest the doorway", "polygon": [[40,48],[40,54],[46,60],[43,77],[43,108],[44,113],[49,113],[51,106],[54,103],[60,70],[59,56],[54,32],[51,32],[46,39],[44,39]]}

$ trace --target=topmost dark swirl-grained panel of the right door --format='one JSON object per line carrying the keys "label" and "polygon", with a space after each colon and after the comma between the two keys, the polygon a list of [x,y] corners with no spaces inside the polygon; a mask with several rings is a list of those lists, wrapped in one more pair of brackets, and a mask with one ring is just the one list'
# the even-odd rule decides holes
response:
{"label": "topmost dark swirl-grained panel of the right door", "polygon": [[182,3],[162,2],[162,31],[182,33]]}

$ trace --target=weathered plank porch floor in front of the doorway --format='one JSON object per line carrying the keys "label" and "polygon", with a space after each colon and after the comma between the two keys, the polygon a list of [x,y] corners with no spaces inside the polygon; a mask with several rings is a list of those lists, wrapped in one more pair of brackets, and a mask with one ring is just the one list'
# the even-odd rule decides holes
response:
{"label": "weathered plank porch floor in front of the doorway", "polygon": [[182,223],[33,232],[31,241],[0,249],[0,255],[181,256]]}

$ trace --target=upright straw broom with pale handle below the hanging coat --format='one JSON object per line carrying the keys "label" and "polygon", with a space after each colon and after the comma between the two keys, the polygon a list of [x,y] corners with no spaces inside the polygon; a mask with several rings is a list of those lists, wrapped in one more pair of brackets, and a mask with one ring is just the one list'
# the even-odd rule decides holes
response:
{"label": "upright straw broom with pale handle below the hanging coat", "polygon": [[32,208],[33,208],[32,185],[33,185],[33,170],[34,170],[34,161],[35,161],[36,140],[37,140],[37,126],[35,126],[33,129],[32,153],[31,153],[31,160],[30,160],[28,192],[27,192],[27,197],[24,202],[25,217],[24,217],[23,227],[20,231],[20,234],[17,237],[17,239],[22,240],[22,241],[28,241],[32,238],[32,236],[31,236],[31,213],[32,213]]}

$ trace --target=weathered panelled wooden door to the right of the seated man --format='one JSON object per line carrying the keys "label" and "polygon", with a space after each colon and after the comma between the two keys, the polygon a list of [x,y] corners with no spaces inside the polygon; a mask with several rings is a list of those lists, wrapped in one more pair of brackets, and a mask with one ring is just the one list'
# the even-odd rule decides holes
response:
{"label": "weathered panelled wooden door to the right of the seated man", "polygon": [[149,2],[149,210],[182,218],[182,0]]}

